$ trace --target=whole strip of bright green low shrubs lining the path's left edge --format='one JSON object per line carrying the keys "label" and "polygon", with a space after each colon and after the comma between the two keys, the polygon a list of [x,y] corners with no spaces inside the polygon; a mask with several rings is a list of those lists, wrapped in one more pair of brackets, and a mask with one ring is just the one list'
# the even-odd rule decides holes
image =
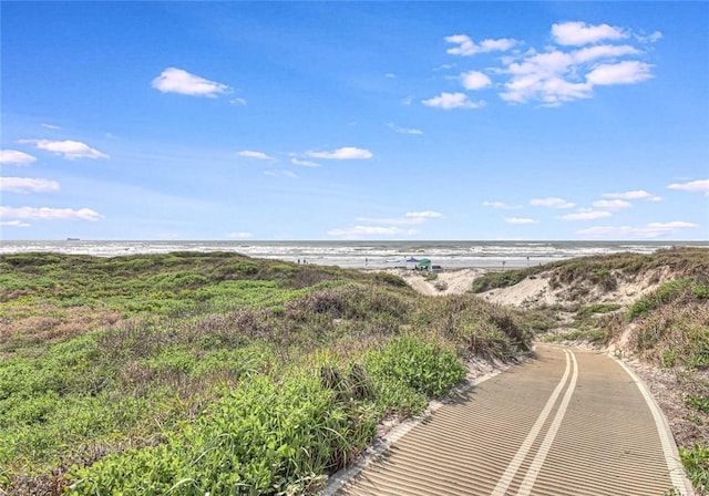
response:
{"label": "whole strip of bright green low shrubs lining the path's left edge", "polygon": [[[425,407],[465,375],[448,348],[402,335],[342,374],[256,374],[156,446],[72,467],[71,493],[260,495],[312,492],[376,434],[388,413]],[[347,379],[345,379],[347,378]],[[348,394],[343,393],[347,385]],[[354,389],[360,388],[359,393]],[[376,405],[376,406],[374,406]]]}

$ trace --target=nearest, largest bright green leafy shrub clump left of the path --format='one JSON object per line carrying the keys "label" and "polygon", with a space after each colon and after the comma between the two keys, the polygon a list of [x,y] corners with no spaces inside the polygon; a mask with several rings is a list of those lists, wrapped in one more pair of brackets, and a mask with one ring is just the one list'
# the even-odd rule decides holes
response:
{"label": "nearest, largest bright green leafy shrub clump left of the path", "polygon": [[[315,378],[254,376],[165,443],[73,467],[71,492],[95,495],[295,494],[312,488],[374,434],[366,409],[346,410]],[[356,432],[358,435],[352,436]],[[357,440],[357,441],[354,441]]]}

